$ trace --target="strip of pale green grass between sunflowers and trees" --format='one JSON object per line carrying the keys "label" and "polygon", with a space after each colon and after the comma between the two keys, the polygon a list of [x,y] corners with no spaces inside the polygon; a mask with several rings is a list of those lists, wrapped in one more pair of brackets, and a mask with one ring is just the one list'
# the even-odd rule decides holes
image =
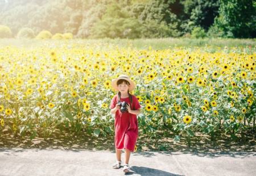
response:
{"label": "strip of pale green grass between sunflowers and trees", "polygon": [[53,43],[77,43],[77,44],[110,44],[119,47],[133,47],[137,49],[168,49],[173,47],[196,48],[196,47],[238,47],[248,48],[253,52],[256,47],[256,39],[189,39],[189,38],[163,38],[163,39],[73,39],[73,40],[36,40],[36,39],[0,39],[0,47],[15,45],[16,47],[35,47],[37,45],[52,45]]}

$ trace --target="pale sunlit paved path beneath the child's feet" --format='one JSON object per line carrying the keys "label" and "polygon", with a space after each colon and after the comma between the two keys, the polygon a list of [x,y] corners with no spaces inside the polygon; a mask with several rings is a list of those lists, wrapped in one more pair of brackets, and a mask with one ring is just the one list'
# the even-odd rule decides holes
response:
{"label": "pale sunlit paved path beneath the child's feet", "polygon": [[[106,150],[0,148],[0,175],[125,175],[114,161]],[[135,152],[130,166],[128,175],[255,175],[256,152]]]}

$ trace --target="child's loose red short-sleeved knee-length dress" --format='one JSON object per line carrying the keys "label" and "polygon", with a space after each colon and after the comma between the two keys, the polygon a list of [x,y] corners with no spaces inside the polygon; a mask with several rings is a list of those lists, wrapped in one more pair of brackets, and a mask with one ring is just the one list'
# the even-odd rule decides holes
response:
{"label": "child's loose red short-sleeved knee-length dress", "polygon": [[[131,110],[138,110],[141,108],[139,101],[135,95],[131,95],[133,104]],[[120,98],[120,101],[127,102],[131,105],[129,97]],[[118,94],[115,95],[111,101],[110,108],[114,108],[118,102]],[[137,115],[129,112],[122,113],[120,110],[115,112],[115,148],[116,149],[129,149],[134,151],[135,144],[138,137],[138,121]]]}

